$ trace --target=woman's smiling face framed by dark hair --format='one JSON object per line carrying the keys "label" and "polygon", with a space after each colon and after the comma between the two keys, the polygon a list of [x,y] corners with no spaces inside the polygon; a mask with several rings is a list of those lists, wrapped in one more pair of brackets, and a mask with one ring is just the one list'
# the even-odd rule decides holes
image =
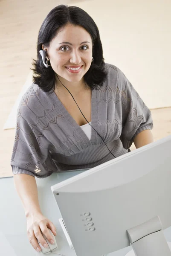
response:
{"label": "woman's smiling face framed by dark hair", "polygon": [[47,55],[58,76],[70,82],[78,82],[91,65],[91,36],[83,27],[68,24],[52,39]]}

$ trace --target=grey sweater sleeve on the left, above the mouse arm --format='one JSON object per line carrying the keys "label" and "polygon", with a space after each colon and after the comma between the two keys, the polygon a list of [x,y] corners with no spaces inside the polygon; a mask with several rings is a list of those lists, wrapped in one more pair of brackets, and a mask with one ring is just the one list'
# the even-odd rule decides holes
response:
{"label": "grey sweater sleeve on the left, above the mouse arm", "polygon": [[[19,108],[20,109],[20,108]],[[25,115],[18,111],[16,134],[12,151],[11,166],[13,174],[27,174],[44,178],[57,172],[48,148],[41,146],[46,140],[38,126],[29,123]]]}

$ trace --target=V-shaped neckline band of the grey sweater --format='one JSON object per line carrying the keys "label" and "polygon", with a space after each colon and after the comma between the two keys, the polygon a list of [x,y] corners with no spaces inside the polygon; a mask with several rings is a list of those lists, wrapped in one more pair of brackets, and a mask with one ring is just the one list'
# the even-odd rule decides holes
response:
{"label": "V-shaped neckline band of the grey sweater", "polygon": [[93,89],[91,93],[91,125],[93,128],[91,128],[91,138],[87,137],[87,135],[84,133],[83,129],[80,125],[75,121],[75,119],[70,115],[70,113],[67,111],[67,109],[64,107],[58,96],[56,95],[55,91],[49,94],[55,104],[60,109],[61,113],[65,116],[65,118],[72,124],[72,126],[75,128],[75,130],[78,132],[78,134],[81,136],[82,140],[84,140],[87,145],[92,145],[95,143],[96,140],[96,131],[97,131],[97,90]]}

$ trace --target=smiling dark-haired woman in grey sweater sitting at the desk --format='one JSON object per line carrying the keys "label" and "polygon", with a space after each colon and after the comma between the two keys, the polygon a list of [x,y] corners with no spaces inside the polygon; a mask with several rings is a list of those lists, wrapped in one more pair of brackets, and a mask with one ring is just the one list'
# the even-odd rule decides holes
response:
{"label": "smiling dark-haired woman in grey sweater sitting at the desk", "polygon": [[[36,177],[89,169],[151,143],[151,112],[119,68],[104,63],[99,30],[78,7],[52,9],[38,35],[34,83],[18,108],[14,183],[35,250],[56,235],[41,213]],[[37,241],[38,239],[38,241]]]}

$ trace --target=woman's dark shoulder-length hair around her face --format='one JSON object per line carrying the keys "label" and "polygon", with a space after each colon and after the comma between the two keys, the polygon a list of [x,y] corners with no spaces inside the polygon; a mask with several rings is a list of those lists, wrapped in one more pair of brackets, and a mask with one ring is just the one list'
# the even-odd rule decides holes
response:
{"label": "woman's dark shoulder-length hair around her face", "polygon": [[106,79],[103,49],[99,35],[99,29],[94,20],[84,10],[76,6],[59,5],[52,9],[43,21],[38,33],[37,60],[33,59],[33,82],[38,84],[45,92],[55,89],[55,72],[52,67],[46,68],[41,55],[42,44],[49,47],[50,42],[57,35],[59,29],[66,24],[82,26],[89,32],[93,43],[93,62],[90,69],[84,75],[85,82],[91,89],[102,86]]}

